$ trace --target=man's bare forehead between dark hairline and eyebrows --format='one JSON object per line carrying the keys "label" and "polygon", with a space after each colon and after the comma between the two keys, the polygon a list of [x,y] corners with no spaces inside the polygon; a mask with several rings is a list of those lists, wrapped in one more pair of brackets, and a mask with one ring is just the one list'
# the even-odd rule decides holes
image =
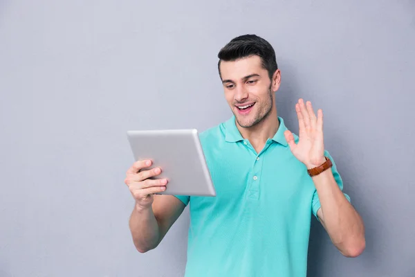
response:
{"label": "man's bare forehead between dark hairline and eyebrows", "polygon": [[232,62],[221,61],[220,69],[222,80],[240,80],[248,75],[266,73],[258,56],[244,57]]}

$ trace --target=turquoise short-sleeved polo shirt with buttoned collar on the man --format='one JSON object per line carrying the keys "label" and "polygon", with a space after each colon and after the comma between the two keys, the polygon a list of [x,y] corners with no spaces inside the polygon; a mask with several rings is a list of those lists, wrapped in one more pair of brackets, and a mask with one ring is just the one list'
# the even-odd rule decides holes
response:
{"label": "turquoise short-sleeved polo shirt with buttoned collar on the man", "polygon": [[[320,201],[278,119],[259,153],[234,116],[199,134],[216,197],[176,195],[190,204],[185,277],[306,276],[311,216]],[[342,189],[334,161],[331,170]]]}

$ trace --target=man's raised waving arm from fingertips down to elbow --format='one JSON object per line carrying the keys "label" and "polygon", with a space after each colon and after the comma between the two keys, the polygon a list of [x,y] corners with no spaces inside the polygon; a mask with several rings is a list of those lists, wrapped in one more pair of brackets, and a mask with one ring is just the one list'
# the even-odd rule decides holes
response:
{"label": "man's raised waving arm from fingertips down to elbow", "polygon": [[[304,103],[299,99],[295,105],[299,124],[299,140],[296,143],[293,134],[284,132],[286,141],[293,155],[307,169],[319,167],[329,155],[324,150],[323,112],[313,111],[310,101]],[[313,213],[317,213],[324,229],[339,251],[347,257],[356,257],[365,249],[365,226],[358,212],[351,206],[349,199],[342,193],[340,175],[335,170],[326,169],[313,176],[317,195],[313,198]],[[336,181],[335,172],[338,181]],[[321,206],[320,206],[321,205]]]}

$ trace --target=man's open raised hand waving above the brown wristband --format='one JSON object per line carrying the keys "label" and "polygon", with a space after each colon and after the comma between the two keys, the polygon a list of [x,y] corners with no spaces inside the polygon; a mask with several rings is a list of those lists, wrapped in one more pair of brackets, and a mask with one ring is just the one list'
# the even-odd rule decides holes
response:
{"label": "man's open raised hand waving above the brown wristband", "polygon": [[299,125],[299,141],[295,143],[293,133],[284,132],[284,136],[290,146],[293,155],[308,169],[321,166],[324,159],[324,141],[323,141],[323,111],[319,109],[317,116],[313,111],[310,101],[304,105],[301,98],[295,105]]}

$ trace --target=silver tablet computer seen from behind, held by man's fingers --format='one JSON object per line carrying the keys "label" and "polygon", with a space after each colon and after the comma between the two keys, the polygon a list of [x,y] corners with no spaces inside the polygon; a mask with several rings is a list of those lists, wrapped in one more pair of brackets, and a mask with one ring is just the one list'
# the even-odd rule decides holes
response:
{"label": "silver tablet computer seen from behind, held by man's fingers", "polygon": [[197,129],[127,131],[127,137],[136,161],[161,168],[153,177],[167,179],[161,195],[216,196]]}

